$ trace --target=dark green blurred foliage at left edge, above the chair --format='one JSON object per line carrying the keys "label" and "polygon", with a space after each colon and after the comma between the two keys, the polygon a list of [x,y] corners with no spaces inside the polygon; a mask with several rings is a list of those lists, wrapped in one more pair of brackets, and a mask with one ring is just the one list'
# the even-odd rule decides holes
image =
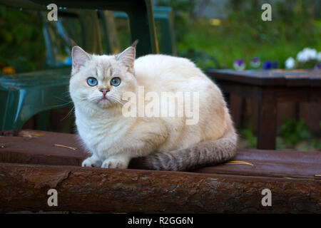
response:
{"label": "dark green blurred foliage at left edge, above the chair", "polygon": [[0,65],[14,66],[17,72],[44,68],[44,35],[35,11],[0,6],[0,27]]}

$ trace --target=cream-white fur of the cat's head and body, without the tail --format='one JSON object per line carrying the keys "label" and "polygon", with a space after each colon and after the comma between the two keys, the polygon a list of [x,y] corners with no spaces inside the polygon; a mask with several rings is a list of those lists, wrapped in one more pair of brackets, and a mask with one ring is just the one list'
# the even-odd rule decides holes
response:
{"label": "cream-white fur of the cat's head and body, without the tail", "polygon": [[[76,125],[80,138],[93,153],[83,161],[83,166],[126,168],[132,157],[183,149],[197,142],[217,140],[233,131],[219,88],[188,59],[148,55],[138,58],[133,68],[128,66],[117,56],[90,56],[82,66],[73,63],[70,93]],[[86,78],[90,76],[98,79],[98,86],[87,85]],[[110,81],[116,76],[121,78],[121,85],[114,87]],[[185,117],[124,117],[123,104],[118,101],[126,91],[138,93],[138,86],[144,86],[146,93],[199,92],[198,123],[186,125]],[[106,95],[110,100],[100,100],[101,88],[110,90]]]}

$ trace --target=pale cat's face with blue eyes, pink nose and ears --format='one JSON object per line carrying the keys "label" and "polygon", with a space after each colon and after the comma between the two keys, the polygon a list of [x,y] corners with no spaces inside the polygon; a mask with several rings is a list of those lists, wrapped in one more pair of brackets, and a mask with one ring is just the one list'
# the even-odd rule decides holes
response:
{"label": "pale cat's face with blue eyes, pink nose and ears", "polygon": [[73,103],[86,108],[123,105],[123,93],[136,93],[138,88],[133,71],[135,52],[131,46],[116,56],[94,56],[74,46],[69,86]]}

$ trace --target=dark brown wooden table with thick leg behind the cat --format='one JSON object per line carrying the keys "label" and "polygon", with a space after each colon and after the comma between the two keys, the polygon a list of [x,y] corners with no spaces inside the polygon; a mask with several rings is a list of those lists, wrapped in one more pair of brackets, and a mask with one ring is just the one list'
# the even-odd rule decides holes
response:
{"label": "dark brown wooden table with thick leg behind the cat", "polygon": [[321,101],[321,71],[209,70],[207,74],[223,93],[258,100],[259,149],[275,149],[277,103]]}

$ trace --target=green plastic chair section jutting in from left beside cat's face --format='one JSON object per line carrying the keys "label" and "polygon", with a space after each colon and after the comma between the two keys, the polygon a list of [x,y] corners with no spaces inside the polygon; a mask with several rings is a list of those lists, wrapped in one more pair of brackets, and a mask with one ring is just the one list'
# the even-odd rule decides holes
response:
{"label": "green plastic chair section jutting in from left beside cat's face", "polygon": [[33,115],[70,105],[70,68],[0,77],[1,130],[21,129]]}

